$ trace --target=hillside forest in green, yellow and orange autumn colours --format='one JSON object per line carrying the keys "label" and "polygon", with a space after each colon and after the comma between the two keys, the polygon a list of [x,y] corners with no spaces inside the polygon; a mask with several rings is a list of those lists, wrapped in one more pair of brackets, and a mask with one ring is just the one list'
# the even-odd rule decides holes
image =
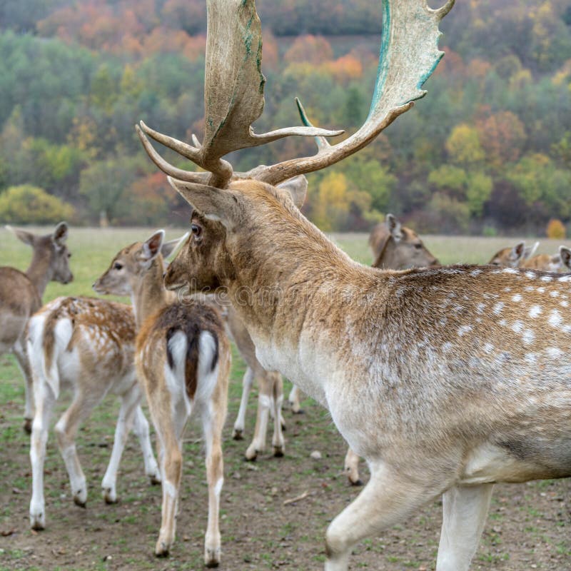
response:
{"label": "hillside forest in green, yellow and orange autumn colours", "polygon": [[[186,223],[133,126],[201,138],[205,4],[0,5],[1,222]],[[373,94],[381,3],[256,4],[268,79],[256,130],[299,125],[298,96],[316,125],[355,131]],[[373,145],[308,176],[305,213],[323,230],[366,231],[387,212],[427,233],[541,235],[552,218],[571,220],[571,4],[459,0],[442,29],[428,96]],[[288,138],[231,162],[245,171],[314,148]]]}

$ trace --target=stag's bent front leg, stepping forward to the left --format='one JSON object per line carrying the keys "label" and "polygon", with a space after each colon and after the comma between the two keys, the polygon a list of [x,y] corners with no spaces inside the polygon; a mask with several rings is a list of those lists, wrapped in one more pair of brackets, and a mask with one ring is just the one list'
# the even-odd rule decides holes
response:
{"label": "stag's bent front leg, stepping forward to the left", "polygon": [[355,543],[403,521],[441,491],[413,482],[386,465],[371,470],[368,484],[328,527],[325,571],[347,571]]}

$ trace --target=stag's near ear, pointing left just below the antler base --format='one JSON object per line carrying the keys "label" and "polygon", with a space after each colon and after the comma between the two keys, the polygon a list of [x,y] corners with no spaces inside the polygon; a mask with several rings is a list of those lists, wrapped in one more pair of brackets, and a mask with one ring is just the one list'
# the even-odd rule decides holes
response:
{"label": "stag's near ear, pointing left just below the antler base", "polygon": [[221,222],[226,228],[233,228],[241,218],[240,195],[226,188],[216,188],[200,183],[178,181],[167,177],[171,186],[196,211],[208,220]]}

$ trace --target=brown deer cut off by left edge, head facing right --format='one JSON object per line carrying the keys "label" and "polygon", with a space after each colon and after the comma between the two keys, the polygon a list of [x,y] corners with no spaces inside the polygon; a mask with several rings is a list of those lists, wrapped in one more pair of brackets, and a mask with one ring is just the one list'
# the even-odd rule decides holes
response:
{"label": "brown deer cut off by left edge, head facing right", "polygon": [[68,227],[60,222],[54,232],[45,236],[11,228],[16,238],[33,249],[26,272],[16,268],[0,268],[0,355],[12,351],[26,381],[24,430],[31,432],[34,413],[32,380],[26,355],[25,330],[29,318],[41,308],[41,298],[49,281],[69,283],[74,275],[69,269],[71,253],[66,246]]}

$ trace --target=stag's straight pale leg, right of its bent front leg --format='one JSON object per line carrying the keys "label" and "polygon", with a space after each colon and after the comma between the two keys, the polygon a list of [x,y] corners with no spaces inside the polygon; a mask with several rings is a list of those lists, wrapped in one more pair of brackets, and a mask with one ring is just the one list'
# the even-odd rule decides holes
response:
{"label": "stag's straight pale leg, right of its bent front leg", "polygon": [[437,571],[468,571],[484,530],[493,484],[455,486],[443,494]]}

